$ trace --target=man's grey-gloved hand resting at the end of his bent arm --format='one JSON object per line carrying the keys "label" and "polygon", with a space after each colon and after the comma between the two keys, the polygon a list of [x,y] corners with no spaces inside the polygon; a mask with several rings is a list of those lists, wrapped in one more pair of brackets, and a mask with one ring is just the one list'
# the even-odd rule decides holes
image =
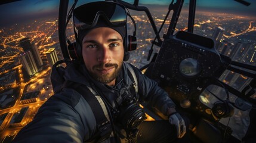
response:
{"label": "man's grey-gloved hand resting at the end of his bent arm", "polygon": [[186,125],[183,118],[177,112],[169,116],[169,123],[177,129],[177,138],[182,138],[186,133]]}

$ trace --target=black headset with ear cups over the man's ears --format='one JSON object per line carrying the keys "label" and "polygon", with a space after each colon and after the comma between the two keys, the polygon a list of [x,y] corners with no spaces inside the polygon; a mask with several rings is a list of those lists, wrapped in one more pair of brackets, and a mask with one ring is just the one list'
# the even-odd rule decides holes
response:
{"label": "black headset with ear cups over the man's ears", "polygon": [[[72,8],[70,8],[69,11],[69,15],[67,17],[67,23],[70,20],[70,18],[72,17],[72,13],[73,10],[75,8],[76,2],[73,4]],[[137,48],[137,38],[136,38],[136,24],[134,19],[131,17],[131,15],[127,12],[127,15],[131,18],[132,23],[134,25],[134,32],[133,35],[128,35],[127,33],[127,23],[125,25],[125,38],[124,38],[124,61],[128,61],[129,60],[129,51],[134,51]],[[66,26],[67,26],[66,23]],[[67,38],[66,41],[68,43],[67,49],[69,51],[69,56],[70,58],[72,58],[73,60],[76,61],[82,61],[83,57],[82,57],[82,46],[79,43],[78,40],[78,33],[76,32],[75,26],[73,24],[73,29],[74,29],[74,33],[75,33],[75,39],[76,42],[71,43]]]}

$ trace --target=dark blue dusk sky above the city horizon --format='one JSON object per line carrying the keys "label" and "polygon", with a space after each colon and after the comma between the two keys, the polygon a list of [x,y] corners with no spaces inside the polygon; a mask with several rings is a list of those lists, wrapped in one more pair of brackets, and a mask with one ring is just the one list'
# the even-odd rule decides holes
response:
{"label": "dark blue dusk sky above the city horizon", "polygon": [[[131,0],[127,2],[133,3]],[[256,1],[246,0],[251,2],[249,7],[240,4],[233,0],[197,0],[197,10],[213,10],[222,11],[224,13],[236,13],[239,11],[240,14],[245,15],[256,15]],[[70,0],[70,4],[73,0]],[[81,5],[85,1],[79,1],[78,5]],[[90,2],[90,1],[87,1]],[[169,5],[170,0],[140,0],[140,5]],[[188,5],[189,0],[184,1],[184,6]],[[15,24],[24,20],[35,19],[44,16],[57,17],[58,15],[57,0],[23,0],[11,2],[9,4],[0,5],[0,26],[6,24]]]}

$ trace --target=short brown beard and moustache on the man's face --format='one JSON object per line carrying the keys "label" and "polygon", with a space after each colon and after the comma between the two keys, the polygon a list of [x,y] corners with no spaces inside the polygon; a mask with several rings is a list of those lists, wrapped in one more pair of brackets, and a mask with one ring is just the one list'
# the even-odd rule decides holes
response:
{"label": "short brown beard and moustache on the man's face", "polygon": [[[120,64],[121,65],[121,64]],[[97,73],[92,73],[91,71],[89,71],[90,75],[92,76],[92,78],[94,78],[95,80],[97,80],[98,82],[107,84],[109,82],[112,82],[114,79],[116,79],[116,77],[118,77],[118,74],[121,70],[121,66],[118,66],[118,64],[97,64],[95,66],[92,67],[93,70],[97,70],[97,69],[103,69],[104,67],[114,67],[114,72],[111,73],[106,73],[106,74],[97,74]]]}

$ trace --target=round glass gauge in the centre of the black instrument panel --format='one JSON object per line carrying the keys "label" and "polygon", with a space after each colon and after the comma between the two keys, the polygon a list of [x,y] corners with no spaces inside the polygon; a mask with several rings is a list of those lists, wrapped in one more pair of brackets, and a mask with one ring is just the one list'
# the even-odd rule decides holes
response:
{"label": "round glass gauge in the centre of the black instrument panel", "polygon": [[194,77],[201,71],[201,66],[195,58],[185,58],[180,62],[180,73],[186,77]]}

